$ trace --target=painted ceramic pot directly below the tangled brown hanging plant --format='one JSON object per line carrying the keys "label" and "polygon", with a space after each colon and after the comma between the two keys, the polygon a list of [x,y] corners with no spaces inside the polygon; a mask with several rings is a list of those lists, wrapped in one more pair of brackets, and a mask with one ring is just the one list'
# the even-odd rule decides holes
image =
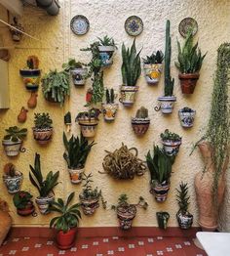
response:
{"label": "painted ceramic pot directly below the tangled brown hanging plant", "polygon": [[122,230],[130,230],[132,228],[135,214],[136,207],[134,205],[117,207],[117,217]]}

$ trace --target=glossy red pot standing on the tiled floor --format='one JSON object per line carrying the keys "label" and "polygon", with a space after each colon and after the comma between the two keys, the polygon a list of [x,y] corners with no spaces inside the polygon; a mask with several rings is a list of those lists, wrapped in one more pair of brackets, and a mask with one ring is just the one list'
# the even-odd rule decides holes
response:
{"label": "glossy red pot standing on the tiled floor", "polygon": [[56,235],[58,248],[61,250],[67,250],[73,247],[76,238],[76,229],[71,229],[66,233],[59,231]]}

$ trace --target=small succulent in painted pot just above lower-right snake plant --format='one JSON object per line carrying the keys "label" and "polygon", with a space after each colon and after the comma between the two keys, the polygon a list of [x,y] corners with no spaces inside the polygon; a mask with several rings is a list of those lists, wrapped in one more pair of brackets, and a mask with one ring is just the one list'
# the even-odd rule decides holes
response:
{"label": "small succulent in painted pot just above lower-right snake plant", "polygon": [[178,153],[182,141],[182,138],[178,134],[166,129],[164,133],[161,133],[161,139],[164,150],[168,155],[172,156]]}

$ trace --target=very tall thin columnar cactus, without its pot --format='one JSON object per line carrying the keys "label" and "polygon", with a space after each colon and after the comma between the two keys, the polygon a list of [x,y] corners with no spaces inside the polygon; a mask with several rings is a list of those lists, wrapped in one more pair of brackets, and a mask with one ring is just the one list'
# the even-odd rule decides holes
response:
{"label": "very tall thin columnar cactus, without its pot", "polygon": [[171,22],[166,23],[166,50],[165,50],[165,96],[173,96],[174,78],[171,76]]}

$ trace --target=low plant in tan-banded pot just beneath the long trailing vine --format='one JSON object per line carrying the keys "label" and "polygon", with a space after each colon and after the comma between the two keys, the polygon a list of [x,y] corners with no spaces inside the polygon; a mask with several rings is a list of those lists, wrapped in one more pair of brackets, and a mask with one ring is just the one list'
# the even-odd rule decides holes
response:
{"label": "low plant in tan-banded pot just beneath the long trailing vine", "polygon": [[79,112],[76,121],[81,127],[84,137],[91,138],[96,135],[96,125],[98,124],[98,115],[100,111],[97,108],[91,108],[89,111]]}

